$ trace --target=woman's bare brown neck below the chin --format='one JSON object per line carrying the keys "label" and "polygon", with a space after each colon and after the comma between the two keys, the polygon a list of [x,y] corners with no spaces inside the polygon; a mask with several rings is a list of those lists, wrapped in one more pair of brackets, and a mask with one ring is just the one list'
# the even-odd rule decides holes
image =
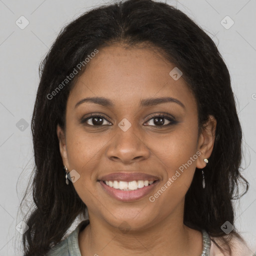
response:
{"label": "woman's bare brown neck below the chin", "polygon": [[[120,230],[90,217],[90,223],[79,233],[81,256],[87,255],[190,255],[202,252],[202,234],[169,216],[140,230]],[[172,221],[171,221],[172,219]],[[175,219],[175,221],[173,221]]]}

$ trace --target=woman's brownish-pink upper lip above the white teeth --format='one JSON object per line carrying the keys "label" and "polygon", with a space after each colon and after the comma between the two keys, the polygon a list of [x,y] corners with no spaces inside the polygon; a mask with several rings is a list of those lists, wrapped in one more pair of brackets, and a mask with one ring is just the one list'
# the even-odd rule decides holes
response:
{"label": "woman's brownish-pink upper lip above the white teeth", "polygon": [[132,181],[132,180],[158,180],[154,175],[142,172],[113,172],[99,177],[99,180],[117,180],[117,181]]}

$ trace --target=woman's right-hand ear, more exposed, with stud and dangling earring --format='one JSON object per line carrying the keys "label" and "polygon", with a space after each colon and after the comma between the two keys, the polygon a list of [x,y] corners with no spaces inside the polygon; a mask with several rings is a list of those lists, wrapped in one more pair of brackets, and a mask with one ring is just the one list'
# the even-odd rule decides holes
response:
{"label": "woman's right-hand ear, more exposed, with stud and dangling earring", "polygon": [[213,115],[209,115],[207,122],[203,125],[198,138],[197,150],[201,152],[196,160],[196,167],[202,169],[206,163],[204,158],[209,158],[215,141],[217,121]]}

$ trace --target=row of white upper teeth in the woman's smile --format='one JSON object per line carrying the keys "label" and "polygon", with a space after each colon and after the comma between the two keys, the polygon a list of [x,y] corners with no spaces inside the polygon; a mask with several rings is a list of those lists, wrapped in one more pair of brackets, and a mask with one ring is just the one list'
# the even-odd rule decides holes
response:
{"label": "row of white upper teeth in the woman's smile", "polygon": [[120,190],[136,190],[138,188],[142,188],[144,186],[151,185],[154,182],[154,180],[132,180],[132,181],[107,181],[105,180],[106,185],[113,187],[115,189]]}

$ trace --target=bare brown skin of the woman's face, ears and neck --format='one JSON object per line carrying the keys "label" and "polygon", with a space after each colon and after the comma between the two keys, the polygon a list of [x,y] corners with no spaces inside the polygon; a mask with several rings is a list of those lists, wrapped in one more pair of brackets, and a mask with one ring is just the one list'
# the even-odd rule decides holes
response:
{"label": "bare brown skin of the woman's face, ears and neck", "polygon": [[[147,47],[107,46],[90,60],[69,94],[65,131],[59,126],[56,131],[63,165],[79,173],[73,185],[88,207],[90,223],[78,237],[82,256],[201,255],[202,234],[183,224],[183,207],[195,167],[204,168],[203,159],[212,152],[216,120],[209,116],[198,134],[195,98],[182,76],[174,80],[169,75],[174,67]],[[84,102],[75,107],[79,100],[95,96],[110,99],[114,106]],[[180,100],[185,108],[175,102],[139,106],[141,99],[166,96]],[[87,126],[79,123],[89,113],[104,116],[100,127],[89,126],[92,119]],[[161,127],[169,121],[155,124],[155,113],[168,113],[177,123]],[[125,132],[118,126],[123,118],[131,123]],[[197,159],[150,202],[149,195],[198,151]],[[148,196],[123,202],[110,197],[97,181],[117,171],[144,172],[160,181]]]}

